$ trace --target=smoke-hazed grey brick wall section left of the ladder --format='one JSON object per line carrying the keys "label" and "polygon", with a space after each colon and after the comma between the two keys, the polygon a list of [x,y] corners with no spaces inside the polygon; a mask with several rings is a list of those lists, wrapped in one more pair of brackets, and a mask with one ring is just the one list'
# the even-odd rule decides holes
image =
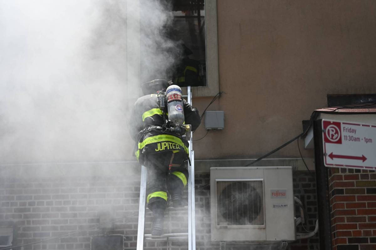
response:
{"label": "smoke-hazed grey brick wall section left of the ladder", "polygon": [[[18,226],[17,244],[57,237],[24,249],[90,249],[90,236],[102,234],[95,226],[99,215],[110,212],[121,218],[138,211],[139,177],[6,178],[0,185],[0,225]],[[137,218],[115,223],[109,234],[126,234],[131,248]],[[71,231],[88,230],[67,235]]]}

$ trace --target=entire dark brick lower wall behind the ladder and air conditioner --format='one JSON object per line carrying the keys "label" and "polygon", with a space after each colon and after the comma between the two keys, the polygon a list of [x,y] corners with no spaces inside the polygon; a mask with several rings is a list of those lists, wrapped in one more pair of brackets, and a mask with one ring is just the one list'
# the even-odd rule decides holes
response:
{"label": "entire dark brick lower wall behind the ladder and air conditioner", "polygon": [[[196,175],[196,188],[209,183],[209,174]],[[313,231],[317,219],[315,181],[305,171],[294,172],[294,194],[305,204],[306,229]],[[0,226],[17,225],[17,244],[35,242],[43,238],[59,237],[21,249],[89,250],[90,237],[102,234],[124,234],[124,249],[135,249],[139,175],[70,177],[70,178],[1,178]],[[97,227],[101,214],[119,219],[111,229]],[[165,219],[165,232],[187,232],[185,211],[170,211]],[[128,217],[129,215],[133,215]],[[299,212],[297,212],[299,215]],[[151,227],[151,213],[147,213],[146,229]],[[196,192],[197,249],[219,249],[219,242],[210,240],[209,187]],[[80,231],[70,233],[72,231]],[[299,226],[298,232],[305,232]],[[69,234],[70,233],[70,234]],[[150,230],[146,230],[150,233]],[[249,244],[249,243],[248,243]],[[187,249],[188,243],[152,241],[145,249]],[[245,249],[244,243],[227,243],[226,249]],[[318,238],[301,240],[289,249],[318,249]]]}

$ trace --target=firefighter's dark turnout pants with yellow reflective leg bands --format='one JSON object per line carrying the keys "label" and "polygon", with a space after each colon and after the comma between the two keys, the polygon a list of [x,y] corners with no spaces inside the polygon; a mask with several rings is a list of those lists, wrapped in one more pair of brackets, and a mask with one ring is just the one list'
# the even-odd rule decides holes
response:
{"label": "firefighter's dark turnout pants with yellow reflective leg bands", "polygon": [[167,207],[167,190],[171,195],[182,194],[188,183],[188,170],[183,165],[184,152],[165,151],[145,156],[147,169],[146,202],[150,210]]}

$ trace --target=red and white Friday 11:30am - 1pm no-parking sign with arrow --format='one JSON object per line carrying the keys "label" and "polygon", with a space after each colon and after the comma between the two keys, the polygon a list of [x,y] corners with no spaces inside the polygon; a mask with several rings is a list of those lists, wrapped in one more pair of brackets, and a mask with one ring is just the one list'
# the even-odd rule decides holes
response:
{"label": "red and white Friday 11:30am - 1pm no-parking sign with arrow", "polygon": [[327,167],[376,169],[376,124],[322,120]]}

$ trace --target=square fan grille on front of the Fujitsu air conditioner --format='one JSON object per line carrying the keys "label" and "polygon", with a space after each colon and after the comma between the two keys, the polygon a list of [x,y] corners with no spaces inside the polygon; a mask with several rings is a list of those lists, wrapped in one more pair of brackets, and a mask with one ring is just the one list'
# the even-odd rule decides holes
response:
{"label": "square fan grille on front of the Fujitsu air conditioner", "polygon": [[264,225],[262,181],[217,181],[217,225]]}

